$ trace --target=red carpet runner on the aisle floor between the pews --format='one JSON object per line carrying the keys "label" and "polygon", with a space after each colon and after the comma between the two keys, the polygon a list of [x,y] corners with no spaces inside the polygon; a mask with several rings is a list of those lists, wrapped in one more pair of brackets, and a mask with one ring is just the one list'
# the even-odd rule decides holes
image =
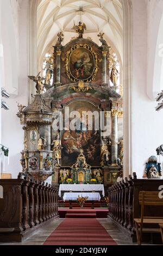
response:
{"label": "red carpet runner on the aisle floor between the pews", "polygon": [[96,218],[66,218],[44,245],[117,245]]}

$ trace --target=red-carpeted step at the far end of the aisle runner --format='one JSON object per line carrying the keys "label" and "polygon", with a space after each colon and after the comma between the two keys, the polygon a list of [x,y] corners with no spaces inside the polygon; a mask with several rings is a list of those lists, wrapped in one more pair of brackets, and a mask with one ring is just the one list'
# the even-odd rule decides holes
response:
{"label": "red-carpeted step at the far end of the aisle runner", "polygon": [[66,218],[96,218],[96,212],[86,210],[67,211]]}

